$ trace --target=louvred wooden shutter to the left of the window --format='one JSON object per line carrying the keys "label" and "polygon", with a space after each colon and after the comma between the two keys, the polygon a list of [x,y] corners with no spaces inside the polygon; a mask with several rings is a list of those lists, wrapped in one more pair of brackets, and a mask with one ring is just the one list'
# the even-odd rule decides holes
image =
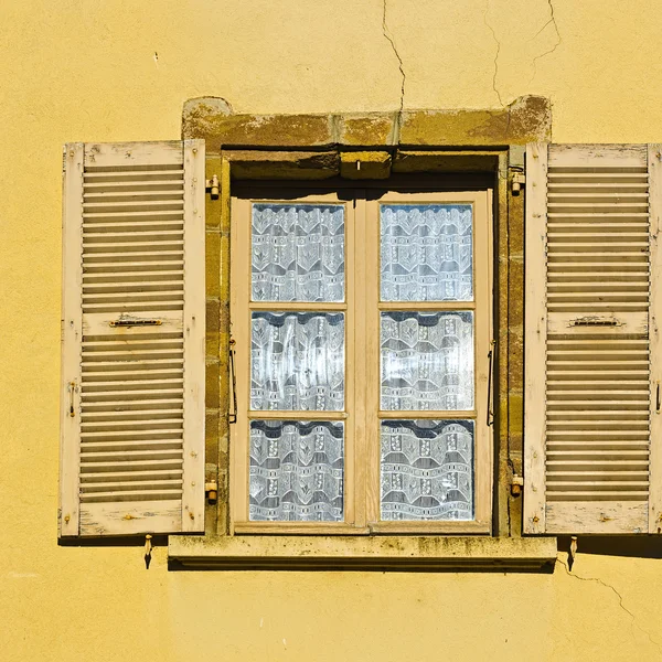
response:
{"label": "louvred wooden shutter to the left of the window", "polygon": [[204,530],[204,141],[64,152],[61,536]]}

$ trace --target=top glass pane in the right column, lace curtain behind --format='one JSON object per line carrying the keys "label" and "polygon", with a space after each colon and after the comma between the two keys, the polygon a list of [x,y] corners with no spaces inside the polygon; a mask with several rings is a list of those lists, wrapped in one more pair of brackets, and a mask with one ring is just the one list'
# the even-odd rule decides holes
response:
{"label": "top glass pane in the right column, lace curtain behind", "polygon": [[469,204],[383,204],[382,301],[471,301]]}

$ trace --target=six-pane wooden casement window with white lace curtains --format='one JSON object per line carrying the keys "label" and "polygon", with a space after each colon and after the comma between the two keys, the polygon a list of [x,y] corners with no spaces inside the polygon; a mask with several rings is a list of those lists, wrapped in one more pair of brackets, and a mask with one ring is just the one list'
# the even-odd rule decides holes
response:
{"label": "six-pane wooden casement window with white lace curtains", "polygon": [[233,201],[235,533],[490,533],[491,195]]}

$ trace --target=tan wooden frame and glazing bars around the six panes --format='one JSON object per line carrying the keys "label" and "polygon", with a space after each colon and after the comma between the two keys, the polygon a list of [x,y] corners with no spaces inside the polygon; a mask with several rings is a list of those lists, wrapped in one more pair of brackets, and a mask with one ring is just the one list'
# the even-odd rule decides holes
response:
{"label": "tan wooden frame and glazing bars around the six panes", "polygon": [[[231,325],[236,343],[237,424],[231,426],[229,533],[268,535],[483,534],[492,533],[493,434],[488,420],[489,359],[493,319],[493,216],[491,189],[471,191],[387,191],[367,200],[355,184],[341,199],[339,189],[320,194],[290,189],[263,195],[259,190],[232,200]],[[346,193],[346,191],[345,191]],[[250,209],[260,202],[335,203],[345,209],[345,301],[343,303],[250,303]],[[380,205],[471,204],[473,284],[471,302],[382,302],[380,300]],[[481,256],[487,255],[487,259]],[[252,310],[342,311],[345,314],[344,412],[250,412],[249,361]],[[386,310],[474,311],[474,408],[470,412],[380,410],[380,314]],[[252,418],[327,419],[345,423],[344,522],[250,522],[248,517],[248,421]],[[383,419],[473,419],[474,519],[471,521],[380,521],[380,421]]]}

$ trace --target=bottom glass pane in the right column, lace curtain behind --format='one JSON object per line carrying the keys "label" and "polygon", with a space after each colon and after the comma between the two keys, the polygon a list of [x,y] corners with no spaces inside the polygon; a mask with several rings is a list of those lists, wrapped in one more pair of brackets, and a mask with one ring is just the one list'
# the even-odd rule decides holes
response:
{"label": "bottom glass pane in the right column, lace curtain behind", "polygon": [[473,520],[473,421],[383,420],[382,520]]}

